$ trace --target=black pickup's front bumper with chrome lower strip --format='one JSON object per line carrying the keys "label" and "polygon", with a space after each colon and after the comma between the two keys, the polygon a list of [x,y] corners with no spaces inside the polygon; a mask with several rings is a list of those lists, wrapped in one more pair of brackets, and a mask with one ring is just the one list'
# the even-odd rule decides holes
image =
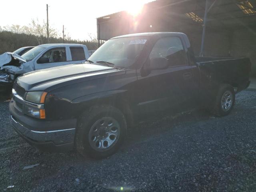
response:
{"label": "black pickup's front bumper with chrome lower strip", "polygon": [[[9,108],[12,127],[30,145],[47,151],[66,151],[74,148],[76,120],[37,120],[18,112],[13,101],[10,101]],[[51,128],[52,125],[55,126]]]}

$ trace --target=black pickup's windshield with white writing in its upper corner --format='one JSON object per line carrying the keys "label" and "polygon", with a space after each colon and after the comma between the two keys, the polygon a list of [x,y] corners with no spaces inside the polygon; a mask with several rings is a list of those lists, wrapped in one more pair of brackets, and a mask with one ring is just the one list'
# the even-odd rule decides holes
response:
{"label": "black pickup's windshield with white writing in its upper corner", "polygon": [[144,48],[145,37],[125,37],[110,39],[96,50],[88,60],[109,62],[118,67],[130,67],[137,60]]}

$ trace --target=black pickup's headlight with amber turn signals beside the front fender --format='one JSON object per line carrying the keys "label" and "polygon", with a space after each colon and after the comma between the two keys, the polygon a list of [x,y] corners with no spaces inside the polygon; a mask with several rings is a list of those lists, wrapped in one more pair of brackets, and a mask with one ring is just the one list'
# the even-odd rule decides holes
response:
{"label": "black pickup's headlight with amber turn signals beside the front fender", "polygon": [[28,92],[25,98],[25,114],[35,118],[45,119],[44,101],[46,95],[47,92],[43,91]]}

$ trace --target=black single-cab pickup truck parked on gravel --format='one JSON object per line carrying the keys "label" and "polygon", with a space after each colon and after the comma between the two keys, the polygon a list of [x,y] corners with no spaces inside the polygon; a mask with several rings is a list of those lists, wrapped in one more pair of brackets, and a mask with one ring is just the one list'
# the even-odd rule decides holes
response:
{"label": "black single-cab pickup truck parked on gravel", "polygon": [[229,114],[250,68],[248,58],[195,58],[183,33],[118,36],[84,64],[17,78],[10,123],[38,148],[104,158],[142,118],[196,106]]}

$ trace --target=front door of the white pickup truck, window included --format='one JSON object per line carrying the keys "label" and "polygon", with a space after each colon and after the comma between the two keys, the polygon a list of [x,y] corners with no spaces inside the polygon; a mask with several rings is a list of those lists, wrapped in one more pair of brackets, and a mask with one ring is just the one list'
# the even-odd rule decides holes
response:
{"label": "front door of the white pickup truck, window included", "polygon": [[35,70],[67,64],[70,64],[70,61],[67,61],[66,47],[57,47],[47,50],[35,61]]}

